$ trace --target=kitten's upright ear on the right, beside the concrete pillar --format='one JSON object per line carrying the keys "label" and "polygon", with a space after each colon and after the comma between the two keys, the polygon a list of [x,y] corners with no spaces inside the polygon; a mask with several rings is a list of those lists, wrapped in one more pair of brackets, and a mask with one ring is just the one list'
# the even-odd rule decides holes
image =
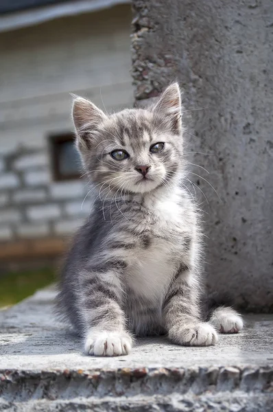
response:
{"label": "kitten's upright ear on the right, beside the concrete pillar", "polygon": [[163,91],[158,102],[152,108],[154,113],[165,117],[175,133],[180,133],[181,122],[181,94],[178,83],[172,83]]}

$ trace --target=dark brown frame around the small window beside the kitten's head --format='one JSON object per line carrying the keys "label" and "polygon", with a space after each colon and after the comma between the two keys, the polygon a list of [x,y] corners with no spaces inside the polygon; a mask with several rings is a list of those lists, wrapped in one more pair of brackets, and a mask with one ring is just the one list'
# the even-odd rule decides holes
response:
{"label": "dark brown frame around the small window beside the kitten's head", "polygon": [[49,153],[51,159],[51,174],[54,181],[69,181],[80,179],[81,172],[75,172],[71,174],[62,174],[60,172],[60,148],[62,144],[67,141],[75,141],[75,135],[73,133],[62,133],[60,135],[49,136]]}

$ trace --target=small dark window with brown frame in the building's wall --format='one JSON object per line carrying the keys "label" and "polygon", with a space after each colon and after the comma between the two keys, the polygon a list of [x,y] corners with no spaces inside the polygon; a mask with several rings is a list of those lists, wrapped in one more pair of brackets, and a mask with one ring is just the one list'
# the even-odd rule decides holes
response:
{"label": "small dark window with brown frame in the building's wall", "polygon": [[80,155],[72,134],[50,137],[51,164],[55,181],[78,179],[82,174]]}

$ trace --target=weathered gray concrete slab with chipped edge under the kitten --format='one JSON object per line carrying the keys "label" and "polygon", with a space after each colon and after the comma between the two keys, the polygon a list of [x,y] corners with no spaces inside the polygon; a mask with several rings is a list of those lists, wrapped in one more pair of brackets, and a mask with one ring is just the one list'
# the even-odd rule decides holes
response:
{"label": "weathered gray concrete slab with chipped edge under the kitten", "polygon": [[93,358],[54,321],[54,297],[0,312],[0,411],[272,411],[271,315],[215,347],[139,339],[129,356]]}

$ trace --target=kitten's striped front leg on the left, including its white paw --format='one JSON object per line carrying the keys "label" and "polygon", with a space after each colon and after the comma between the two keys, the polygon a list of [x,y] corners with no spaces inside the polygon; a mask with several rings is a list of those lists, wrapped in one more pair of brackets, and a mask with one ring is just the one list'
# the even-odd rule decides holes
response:
{"label": "kitten's striped front leg on the left, including its white paw", "polygon": [[87,272],[82,278],[84,352],[94,356],[127,355],[132,338],[126,331],[126,317],[120,306],[122,290],[117,273]]}

